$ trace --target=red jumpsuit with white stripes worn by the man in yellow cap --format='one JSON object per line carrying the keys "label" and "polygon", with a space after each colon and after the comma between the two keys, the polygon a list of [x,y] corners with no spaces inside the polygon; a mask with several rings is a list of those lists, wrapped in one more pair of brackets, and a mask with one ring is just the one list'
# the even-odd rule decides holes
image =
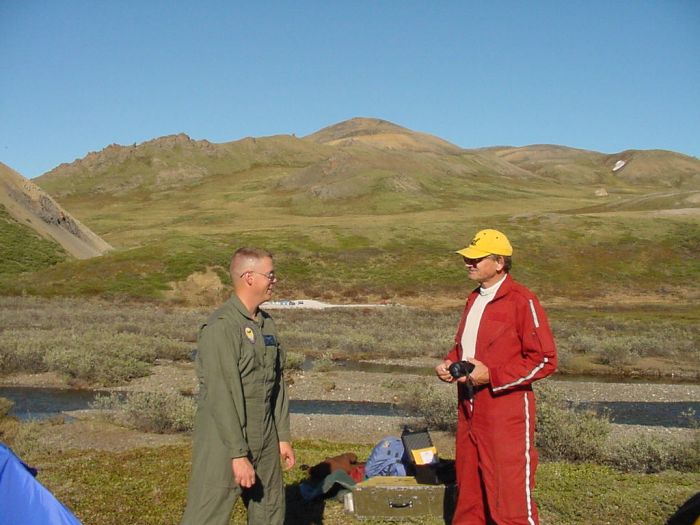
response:
{"label": "red jumpsuit with white stripes worn by the man in yellow cap", "polygon": [[[462,332],[478,290],[472,292],[446,359],[461,359]],[[532,382],[556,369],[557,352],[537,297],[506,276],[486,305],[476,359],[490,384],[458,384],[456,468],[459,487],[452,523],[536,525],[535,397]],[[470,398],[471,397],[471,398]]]}

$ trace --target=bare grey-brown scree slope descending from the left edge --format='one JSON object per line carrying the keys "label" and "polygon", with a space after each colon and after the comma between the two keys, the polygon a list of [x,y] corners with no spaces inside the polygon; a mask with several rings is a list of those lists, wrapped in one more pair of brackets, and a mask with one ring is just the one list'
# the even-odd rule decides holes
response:
{"label": "bare grey-brown scree slope descending from the left edge", "polygon": [[102,255],[112,247],[72,217],[48,193],[0,163],[0,205],[22,226],[60,244],[77,259]]}

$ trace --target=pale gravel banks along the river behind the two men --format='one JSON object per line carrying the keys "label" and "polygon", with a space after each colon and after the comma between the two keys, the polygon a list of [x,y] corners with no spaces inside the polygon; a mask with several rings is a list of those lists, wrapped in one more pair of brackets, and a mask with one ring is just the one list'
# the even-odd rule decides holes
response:
{"label": "pale gravel banks along the river behind the two men", "polygon": [[[427,360],[413,365],[424,366]],[[418,369],[418,368],[417,368]],[[600,402],[691,402],[700,401],[698,384],[613,383],[609,381],[565,381],[559,378],[546,380],[553,389],[572,403]],[[294,371],[289,374],[289,395],[293,400],[354,401],[374,403],[399,403],[406,385],[424,382],[450,389],[424,374],[362,372],[329,367],[325,370]],[[8,386],[61,386],[60,378],[51,374],[15,374],[0,380]],[[117,391],[159,391],[192,393],[196,379],[192,363],[163,361],[153,367],[151,375],[117,387]],[[158,446],[189,440],[186,434],[159,435],[138,432],[102,421],[94,410],[70,412],[74,422],[52,425],[42,432],[41,440],[48,447],[62,450],[72,448],[97,448],[123,450],[141,446]],[[695,416],[697,417],[697,415]],[[295,439],[327,440],[332,442],[376,443],[387,435],[400,434],[404,425],[419,426],[421,421],[406,416],[387,415],[291,415],[292,433]],[[691,439],[697,429],[658,425],[613,424],[611,439],[621,439],[630,434],[644,434],[660,438],[681,437]],[[438,449],[445,456],[454,454],[454,437],[447,432],[431,431]]]}

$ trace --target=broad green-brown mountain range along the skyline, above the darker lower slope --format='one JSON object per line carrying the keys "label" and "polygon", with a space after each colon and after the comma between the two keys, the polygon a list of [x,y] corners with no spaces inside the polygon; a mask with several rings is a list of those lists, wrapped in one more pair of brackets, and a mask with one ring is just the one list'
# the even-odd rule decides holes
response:
{"label": "broad green-brown mountain range along the skyline, above the darker lower slope", "polygon": [[[624,166],[613,170],[619,162]],[[700,161],[660,150],[463,149],[385,120],[355,118],[302,138],[214,144],[179,134],[113,144],[35,181],[80,210],[110,242],[124,242],[116,230],[134,232],[131,244],[140,242],[135,232],[162,231],[173,221],[224,223],[270,210],[296,217],[384,216],[474,201],[529,208],[528,200],[562,194],[598,197],[562,203],[591,211],[695,208]]]}

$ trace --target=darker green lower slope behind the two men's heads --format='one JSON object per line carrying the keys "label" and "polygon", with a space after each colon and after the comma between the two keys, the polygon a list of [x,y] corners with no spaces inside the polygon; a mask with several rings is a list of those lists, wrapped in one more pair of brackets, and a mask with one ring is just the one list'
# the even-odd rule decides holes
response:
{"label": "darker green lower slope behind the two men's heads", "polygon": [[[0,283],[6,292],[15,293],[157,297],[168,282],[193,271],[208,265],[225,268],[234,246],[255,244],[277,254],[283,277],[280,297],[446,295],[457,299],[470,285],[453,251],[468,242],[465,232],[493,225],[507,231],[518,249],[514,275],[545,297],[581,299],[610,292],[653,295],[683,288],[697,292],[694,283],[700,263],[694,254],[700,251],[700,236],[696,220],[461,215],[436,211],[394,220],[352,217],[322,224],[293,217],[288,224],[241,219],[234,221],[234,228],[183,224],[165,235],[159,235],[154,226],[134,232],[133,237],[143,236],[140,246],[58,264],[44,270],[41,281],[28,273]],[[124,238],[129,236],[125,232]],[[108,240],[114,244],[116,238]],[[226,279],[225,272],[222,278]]]}

